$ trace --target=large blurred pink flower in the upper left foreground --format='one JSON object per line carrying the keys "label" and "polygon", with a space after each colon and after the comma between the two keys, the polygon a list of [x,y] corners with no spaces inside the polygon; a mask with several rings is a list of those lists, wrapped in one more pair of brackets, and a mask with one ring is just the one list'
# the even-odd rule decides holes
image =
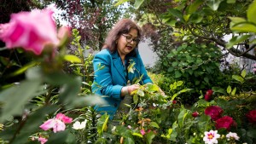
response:
{"label": "large blurred pink flower in the upper left foreground", "polygon": [[46,44],[59,43],[52,14],[48,9],[11,14],[9,24],[0,26],[0,38],[9,49],[22,47],[40,55]]}

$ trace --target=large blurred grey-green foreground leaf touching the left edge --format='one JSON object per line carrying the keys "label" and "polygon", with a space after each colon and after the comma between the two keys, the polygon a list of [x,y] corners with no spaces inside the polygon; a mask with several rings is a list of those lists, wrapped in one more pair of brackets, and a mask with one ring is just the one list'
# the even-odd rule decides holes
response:
{"label": "large blurred grey-green foreground leaf touching the left edge", "polygon": [[[28,101],[37,92],[40,80],[26,80],[0,93],[0,101],[3,102],[0,122],[13,115],[20,115]],[[18,101],[17,101],[18,100]],[[15,107],[14,107],[15,101]]]}

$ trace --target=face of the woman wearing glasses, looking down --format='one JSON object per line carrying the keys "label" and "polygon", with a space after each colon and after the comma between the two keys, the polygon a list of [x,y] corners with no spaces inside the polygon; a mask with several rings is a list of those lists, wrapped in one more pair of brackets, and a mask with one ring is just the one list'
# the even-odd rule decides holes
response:
{"label": "face of the woman wearing glasses, looking down", "polygon": [[122,34],[117,41],[119,55],[125,56],[135,49],[138,43],[137,30],[131,29],[129,33]]}

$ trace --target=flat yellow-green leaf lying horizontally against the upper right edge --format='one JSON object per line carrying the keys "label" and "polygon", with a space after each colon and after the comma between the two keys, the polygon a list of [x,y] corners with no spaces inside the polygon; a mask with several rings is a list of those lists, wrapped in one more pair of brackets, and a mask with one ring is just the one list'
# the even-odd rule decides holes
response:
{"label": "flat yellow-green leaf lying horizontally against the upper right edge", "polygon": [[254,32],[254,33],[256,33],[256,25],[253,25],[248,22],[238,23],[238,24],[230,27],[230,29],[234,32]]}

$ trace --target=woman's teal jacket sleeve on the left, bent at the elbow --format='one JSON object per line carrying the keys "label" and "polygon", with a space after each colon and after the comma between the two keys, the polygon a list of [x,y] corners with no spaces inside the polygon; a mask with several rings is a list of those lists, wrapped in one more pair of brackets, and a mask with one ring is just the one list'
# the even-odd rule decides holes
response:
{"label": "woman's teal jacket sleeve on the left, bent at the elbow", "polygon": [[[102,95],[108,95],[114,99],[120,100],[121,85],[113,85],[111,75],[112,57],[108,53],[98,53],[93,60],[94,81],[98,86],[97,91]],[[104,66],[103,68],[100,68]],[[100,68],[100,69],[99,69]]]}

